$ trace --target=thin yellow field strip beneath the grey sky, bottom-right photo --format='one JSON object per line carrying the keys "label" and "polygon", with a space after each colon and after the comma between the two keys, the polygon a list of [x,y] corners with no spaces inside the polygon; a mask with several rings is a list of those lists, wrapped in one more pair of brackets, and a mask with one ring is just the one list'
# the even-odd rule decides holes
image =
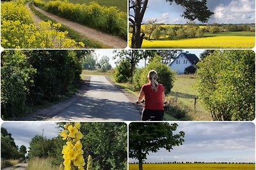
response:
{"label": "thin yellow field strip beneath the grey sky, bottom-right photo", "polygon": [[[254,170],[255,164],[143,164],[143,170]],[[129,170],[138,170],[138,164],[129,164]]]}

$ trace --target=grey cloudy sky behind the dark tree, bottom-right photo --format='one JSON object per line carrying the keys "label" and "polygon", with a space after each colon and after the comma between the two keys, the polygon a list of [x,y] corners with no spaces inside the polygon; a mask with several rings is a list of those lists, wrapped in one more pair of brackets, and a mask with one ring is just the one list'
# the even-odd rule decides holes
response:
{"label": "grey cloudy sky behind the dark tree, bottom-right photo", "polygon": [[[179,122],[182,146],[150,153],[146,162],[255,162],[255,127],[250,122]],[[129,159],[129,162],[138,160]]]}

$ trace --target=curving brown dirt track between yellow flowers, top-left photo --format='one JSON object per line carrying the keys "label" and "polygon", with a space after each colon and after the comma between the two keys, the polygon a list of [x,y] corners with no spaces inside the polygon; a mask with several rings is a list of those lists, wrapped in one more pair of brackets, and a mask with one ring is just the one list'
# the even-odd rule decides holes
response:
{"label": "curving brown dirt track between yellow flowers, top-left photo", "polygon": [[40,13],[43,13],[49,18],[52,18],[53,20],[56,20],[56,22],[60,22],[61,24],[70,27],[74,31],[79,32],[83,36],[86,36],[87,38],[93,39],[95,41],[99,41],[100,43],[111,46],[111,48],[126,48],[127,47],[127,41],[125,41],[122,38],[119,38],[118,36],[112,36],[110,34],[106,34],[100,31],[97,31],[95,29],[92,29],[90,27],[86,27],[81,24],[77,24],[76,22],[72,22],[70,20],[66,20],[65,18],[58,17],[56,15],[53,15],[47,11],[41,10],[40,8],[36,7],[34,4],[36,10],[40,11]]}

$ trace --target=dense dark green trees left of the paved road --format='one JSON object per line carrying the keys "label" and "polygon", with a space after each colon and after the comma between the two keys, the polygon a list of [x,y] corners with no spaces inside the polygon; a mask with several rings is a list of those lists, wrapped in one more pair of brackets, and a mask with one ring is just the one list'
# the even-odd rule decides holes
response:
{"label": "dense dark green trees left of the paved road", "polygon": [[17,117],[31,106],[76,92],[88,50],[4,50],[1,53],[1,115]]}

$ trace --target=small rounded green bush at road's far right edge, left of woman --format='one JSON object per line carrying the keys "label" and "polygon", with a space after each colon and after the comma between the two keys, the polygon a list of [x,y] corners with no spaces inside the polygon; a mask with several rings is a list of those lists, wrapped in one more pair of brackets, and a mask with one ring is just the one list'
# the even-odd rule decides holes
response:
{"label": "small rounded green bush at road's far right edge, left of woman", "polygon": [[115,81],[118,83],[124,83],[129,80],[131,70],[131,64],[127,60],[123,60],[115,69]]}

